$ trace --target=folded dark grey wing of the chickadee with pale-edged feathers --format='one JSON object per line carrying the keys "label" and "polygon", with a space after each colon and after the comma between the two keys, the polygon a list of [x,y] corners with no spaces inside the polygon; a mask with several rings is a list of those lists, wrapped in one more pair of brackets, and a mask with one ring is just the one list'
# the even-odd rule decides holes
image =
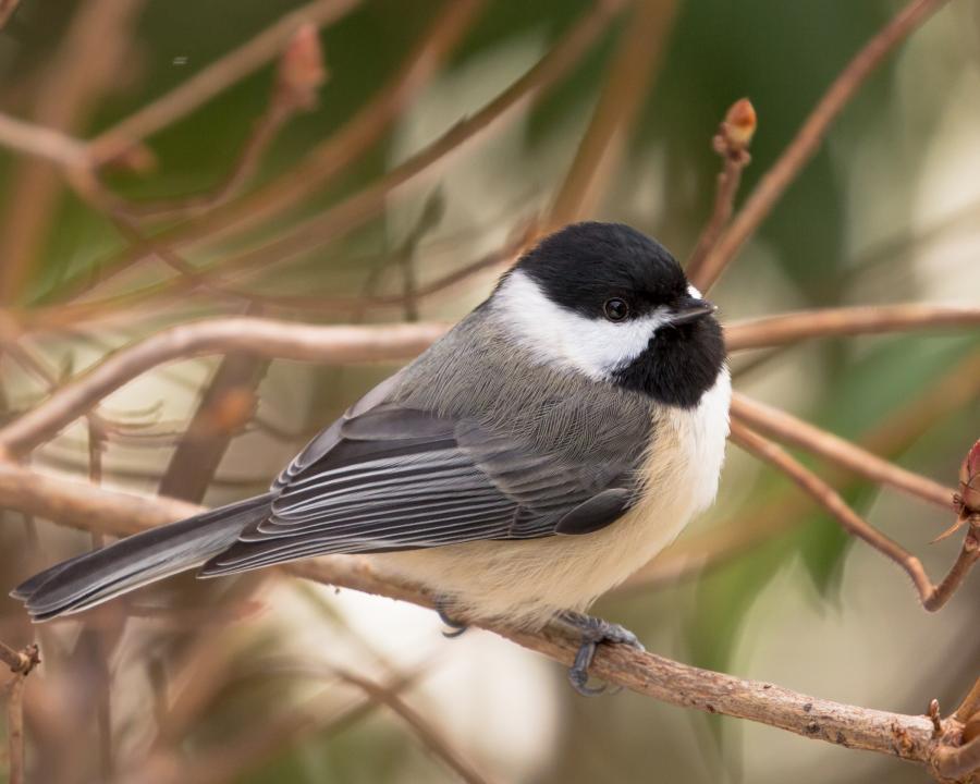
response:
{"label": "folded dark grey wing of the chickadee with pale-edged feathers", "polygon": [[326,553],[586,534],[630,504],[632,455],[595,465],[541,453],[506,429],[387,396],[372,393],[314,439],[273,486],[269,517],[204,574]]}

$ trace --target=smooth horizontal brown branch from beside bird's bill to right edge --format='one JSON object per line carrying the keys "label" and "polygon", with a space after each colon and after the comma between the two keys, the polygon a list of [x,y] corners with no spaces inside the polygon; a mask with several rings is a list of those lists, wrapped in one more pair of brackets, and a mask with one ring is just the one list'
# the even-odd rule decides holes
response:
{"label": "smooth horizontal brown branch from beside bird's bill to right edge", "polygon": [[980,307],[968,305],[861,305],[798,310],[725,326],[728,351],[785,345],[811,338],[881,334],[916,329],[980,326]]}

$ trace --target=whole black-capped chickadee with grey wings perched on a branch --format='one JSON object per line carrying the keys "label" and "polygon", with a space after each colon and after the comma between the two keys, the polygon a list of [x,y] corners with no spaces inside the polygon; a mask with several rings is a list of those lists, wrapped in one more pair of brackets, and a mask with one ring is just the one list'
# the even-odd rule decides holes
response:
{"label": "whole black-capped chickadee with grey wings perched on a branch", "polygon": [[580,639],[569,679],[592,694],[597,646],[639,642],[583,612],[718,489],[731,379],[714,313],[650,237],[568,225],[268,493],[52,566],[12,596],[44,621],[195,567],[364,553],[439,597],[448,623],[564,624]]}

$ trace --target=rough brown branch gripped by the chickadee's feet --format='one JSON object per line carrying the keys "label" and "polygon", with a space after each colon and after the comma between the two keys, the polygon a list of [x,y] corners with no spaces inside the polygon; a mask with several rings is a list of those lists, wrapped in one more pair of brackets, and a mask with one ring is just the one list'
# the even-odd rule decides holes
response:
{"label": "rough brown branch gripped by the chickadee's feet", "polygon": [[[15,478],[15,481],[10,481]],[[0,465],[0,505],[90,529],[135,531],[149,518],[179,519],[187,505],[166,499],[144,499],[81,482],[49,479],[16,466]],[[191,507],[197,510],[199,507]],[[358,556],[332,555],[285,567],[290,574],[392,599],[432,607],[432,597],[417,586],[378,571]],[[548,629],[539,635],[487,628],[568,664],[577,641]],[[926,715],[912,716],[808,697],[773,684],[745,681],[688,666],[622,646],[602,646],[592,672],[611,684],[663,702],[748,719],[811,739],[866,749],[932,765],[953,752],[955,740],[933,737]],[[961,748],[967,748],[966,746]]]}

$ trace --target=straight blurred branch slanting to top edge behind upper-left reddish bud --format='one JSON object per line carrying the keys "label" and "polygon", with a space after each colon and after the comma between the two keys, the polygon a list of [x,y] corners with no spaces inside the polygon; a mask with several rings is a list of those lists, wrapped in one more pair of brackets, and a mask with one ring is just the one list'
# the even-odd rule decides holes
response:
{"label": "straight blurred branch slanting to top edge behind upper-left reddish bud", "polygon": [[327,26],[357,8],[360,0],[316,0],[291,11],[255,38],[198,71],[170,93],[143,107],[90,142],[98,166],[124,154],[135,143],[186,117],[267,62],[274,60],[306,23]]}

